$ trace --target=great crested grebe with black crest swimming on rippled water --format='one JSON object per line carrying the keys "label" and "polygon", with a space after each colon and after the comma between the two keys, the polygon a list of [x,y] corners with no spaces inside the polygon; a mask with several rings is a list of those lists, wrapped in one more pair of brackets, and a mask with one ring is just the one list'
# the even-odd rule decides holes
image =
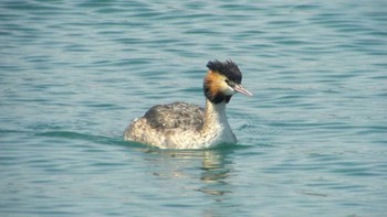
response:
{"label": "great crested grebe with black crest swimming on rippled water", "polygon": [[242,74],[232,61],[210,61],[207,67],[206,109],[186,102],[154,106],[129,124],[124,139],[160,149],[208,149],[236,143],[226,104],[236,93],[252,94],[241,86]]}

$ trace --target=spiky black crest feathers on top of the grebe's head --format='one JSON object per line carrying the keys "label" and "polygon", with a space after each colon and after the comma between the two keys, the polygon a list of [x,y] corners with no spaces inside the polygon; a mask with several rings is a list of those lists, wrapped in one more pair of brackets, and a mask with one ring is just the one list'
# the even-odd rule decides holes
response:
{"label": "spiky black crest feathers on top of the grebe's head", "polygon": [[242,73],[231,59],[226,62],[209,61],[207,67],[213,72],[219,72],[236,84],[241,84],[242,82]]}

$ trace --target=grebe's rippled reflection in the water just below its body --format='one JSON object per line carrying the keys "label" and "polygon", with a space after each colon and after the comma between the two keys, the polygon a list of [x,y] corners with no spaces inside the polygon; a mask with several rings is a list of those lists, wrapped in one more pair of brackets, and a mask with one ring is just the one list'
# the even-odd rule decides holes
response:
{"label": "grebe's rippled reflection in the water just below its body", "polygon": [[[157,156],[157,166],[154,167],[157,171],[153,172],[155,176],[189,178],[190,182],[188,183],[192,183],[191,180],[194,178],[192,185],[195,187],[184,186],[184,188],[202,192],[208,195],[231,193],[229,176],[230,172],[233,171],[233,163],[230,158],[230,154],[233,153],[232,148],[201,151],[150,149],[147,152]],[[151,161],[156,161],[156,159],[151,158]]]}

